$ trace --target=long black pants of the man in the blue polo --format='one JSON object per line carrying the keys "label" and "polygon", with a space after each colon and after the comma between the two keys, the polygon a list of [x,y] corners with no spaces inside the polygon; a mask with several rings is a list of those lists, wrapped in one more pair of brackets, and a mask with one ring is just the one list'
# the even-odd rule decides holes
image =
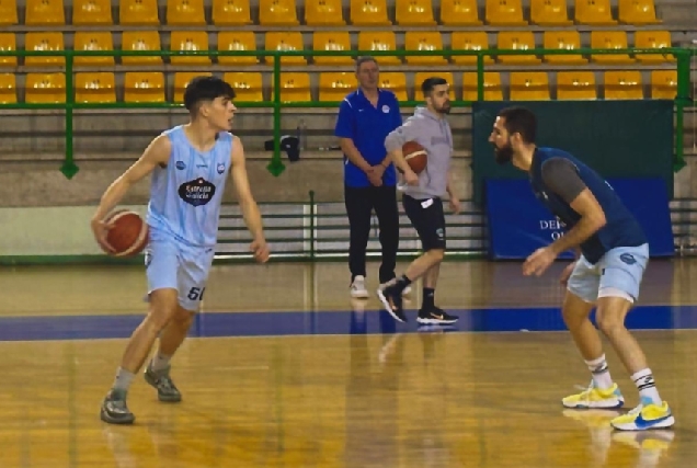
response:
{"label": "long black pants of the man in the blue polo", "polygon": [[397,189],[392,186],[350,187],[344,186],[344,202],[351,231],[348,269],[351,281],[356,275],[366,276],[365,254],[370,235],[373,209],[378,218],[379,239],[382,247],[382,263],[379,281],[386,283],[395,277],[397,249],[399,244],[399,213]]}

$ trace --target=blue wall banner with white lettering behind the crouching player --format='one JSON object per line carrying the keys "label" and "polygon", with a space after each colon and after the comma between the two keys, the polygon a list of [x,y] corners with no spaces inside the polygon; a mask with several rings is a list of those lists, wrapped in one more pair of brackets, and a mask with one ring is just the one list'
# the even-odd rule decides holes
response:
{"label": "blue wall banner with white lettering behind the crouching player", "polygon": [[[674,254],[673,227],[663,179],[608,179],[649,239],[651,256]],[[489,252],[493,259],[526,259],[563,236],[557,218],[527,180],[487,180]],[[573,259],[564,252],[560,259]]]}

